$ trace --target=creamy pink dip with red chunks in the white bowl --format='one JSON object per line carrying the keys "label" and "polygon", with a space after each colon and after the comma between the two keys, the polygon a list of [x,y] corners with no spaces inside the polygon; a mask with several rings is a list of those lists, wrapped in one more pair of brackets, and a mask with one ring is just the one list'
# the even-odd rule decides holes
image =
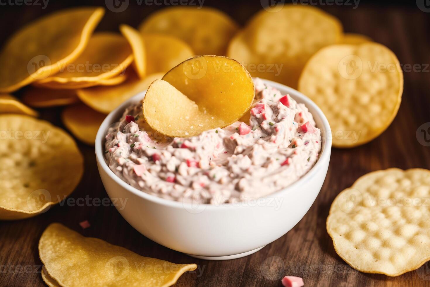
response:
{"label": "creamy pink dip with red chunks in the white bowl", "polygon": [[321,133],[304,104],[255,79],[249,125],[236,122],[189,138],[158,140],[141,103],[107,131],[106,160],[125,182],[174,201],[207,204],[256,199],[307,173]]}

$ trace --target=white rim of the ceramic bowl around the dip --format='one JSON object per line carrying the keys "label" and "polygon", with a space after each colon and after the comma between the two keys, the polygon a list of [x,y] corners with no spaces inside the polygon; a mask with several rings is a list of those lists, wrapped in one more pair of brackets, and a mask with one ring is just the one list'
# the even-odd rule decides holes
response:
{"label": "white rim of the ceramic bowl around the dip", "polygon": [[[325,114],[322,112],[322,110],[307,96],[300,93],[296,89],[293,89],[289,86],[286,86],[281,83],[277,83],[271,80],[266,80],[260,78],[265,84],[273,86],[276,89],[281,89],[286,91],[293,99],[298,100],[299,103],[304,103],[307,108],[312,108],[313,112],[311,113],[314,119],[318,117],[322,122],[322,127],[319,127],[319,129],[322,131],[322,133],[326,133],[325,138],[322,137],[321,142],[321,149],[322,151],[319,154],[319,159],[316,161],[316,164],[313,165],[313,167],[305,173],[301,178],[293,182],[291,185],[287,186],[286,188],[283,188],[279,191],[275,191],[271,194],[267,194],[266,196],[263,196],[261,198],[274,198],[274,197],[282,197],[283,194],[288,193],[289,191],[293,190],[296,186],[302,184],[303,182],[306,182],[307,180],[311,179],[318,171],[322,171],[320,167],[330,160],[330,154],[332,149],[332,136],[331,136],[331,128],[329,121],[327,120]],[[119,105],[117,108],[115,108],[113,111],[111,111],[103,120],[100,127],[98,128],[97,135],[95,137],[95,157],[98,162],[98,165],[103,171],[107,174],[107,176],[111,177],[117,184],[119,184],[122,188],[124,188],[126,191],[131,192],[132,194],[137,195],[140,198],[146,199],[148,201],[152,201],[155,204],[161,204],[165,206],[170,207],[176,207],[183,209],[184,207],[186,209],[195,209],[193,204],[181,202],[181,201],[173,201],[171,199],[161,198],[157,195],[149,194],[145,191],[141,191],[132,185],[129,185],[127,182],[123,181],[119,176],[117,176],[108,166],[106,163],[106,160],[104,159],[104,153],[102,151],[102,147],[104,148],[104,141],[105,141],[105,132],[107,128],[114,122],[117,121],[118,115],[122,115],[126,107],[128,107],[131,103],[137,102],[141,100],[146,93],[146,90],[142,91],[141,93],[136,94],[135,96],[132,96],[125,102],[123,102],[121,105]],[[115,121],[116,120],[116,121]],[[99,171],[100,173],[100,171]],[[247,207],[247,205],[233,205],[233,204],[220,204],[220,205],[214,205],[214,204],[201,204],[206,209],[224,209],[224,208],[235,208],[235,207]]]}

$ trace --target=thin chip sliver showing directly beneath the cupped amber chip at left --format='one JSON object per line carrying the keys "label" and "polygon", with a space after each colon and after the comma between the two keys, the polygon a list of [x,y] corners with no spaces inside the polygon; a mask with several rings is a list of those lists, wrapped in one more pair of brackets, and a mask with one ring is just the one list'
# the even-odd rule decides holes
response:
{"label": "thin chip sliver showing directly beneath the cupped amber chip at left", "polygon": [[69,83],[58,83],[58,82],[34,82],[32,86],[46,88],[46,89],[83,89],[91,86],[115,86],[123,83],[127,80],[126,73],[123,71],[120,75],[108,79],[101,79],[97,81],[80,81],[80,82],[69,82]]}

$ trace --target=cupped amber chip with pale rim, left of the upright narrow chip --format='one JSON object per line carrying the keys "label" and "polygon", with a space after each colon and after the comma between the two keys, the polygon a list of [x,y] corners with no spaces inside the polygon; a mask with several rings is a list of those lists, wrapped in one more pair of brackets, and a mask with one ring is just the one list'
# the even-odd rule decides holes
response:
{"label": "cupped amber chip with pale rim, left of the upright narrow chip", "polygon": [[37,84],[99,82],[121,74],[133,58],[131,46],[121,34],[97,32],[76,60],[62,66],[59,73],[38,80]]}

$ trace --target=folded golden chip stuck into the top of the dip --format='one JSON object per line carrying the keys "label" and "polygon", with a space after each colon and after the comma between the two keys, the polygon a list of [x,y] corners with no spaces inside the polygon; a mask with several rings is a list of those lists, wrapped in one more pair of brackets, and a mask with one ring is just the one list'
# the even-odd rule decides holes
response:
{"label": "folded golden chip stuck into the top of the dip", "polygon": [[239,120],[254,96],[252,78],[237,61],[198,56],[149,86],[143,114],[154,130],[166,136],[192,136]]}

